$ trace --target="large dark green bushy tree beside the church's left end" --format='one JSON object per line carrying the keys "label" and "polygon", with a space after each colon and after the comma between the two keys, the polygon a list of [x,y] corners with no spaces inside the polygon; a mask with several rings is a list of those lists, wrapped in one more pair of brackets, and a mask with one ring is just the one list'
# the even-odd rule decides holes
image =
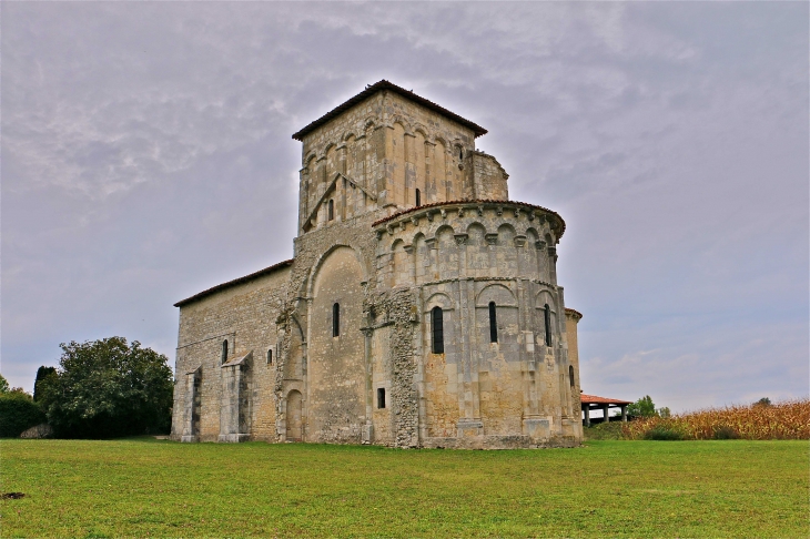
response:
{"label": "large dark green bushy tree beside the church's left end", "polygon": [[38,397],[57,436],[112,438],[165,433],[171,426],[169,359],[123,337],[69,344]]}

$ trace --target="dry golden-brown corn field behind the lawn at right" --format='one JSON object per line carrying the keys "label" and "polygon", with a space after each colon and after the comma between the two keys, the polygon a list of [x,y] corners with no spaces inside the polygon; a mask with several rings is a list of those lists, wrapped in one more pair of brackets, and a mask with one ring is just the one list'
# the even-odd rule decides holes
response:
{"label": "dry golden-brown corn field behind the lawn at right", "polygon": [[651,431],[672,433],[686,440],[807,440],[810,439],[810,398],[706,408],[668,418],[637,419],[622,426],[622,436],[628,439],[642,439]]}

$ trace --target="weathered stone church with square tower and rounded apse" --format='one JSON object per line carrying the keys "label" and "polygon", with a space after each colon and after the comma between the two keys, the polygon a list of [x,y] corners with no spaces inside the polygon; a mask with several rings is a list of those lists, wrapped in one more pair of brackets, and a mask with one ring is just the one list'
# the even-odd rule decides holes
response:
{"label": "weathered stone church with square tower and rounded apse", "polygon": [[486,132],[381,81],[295,133],[294,258],[175,304],[172,438],[578,445],[565,222],[509,200]]}

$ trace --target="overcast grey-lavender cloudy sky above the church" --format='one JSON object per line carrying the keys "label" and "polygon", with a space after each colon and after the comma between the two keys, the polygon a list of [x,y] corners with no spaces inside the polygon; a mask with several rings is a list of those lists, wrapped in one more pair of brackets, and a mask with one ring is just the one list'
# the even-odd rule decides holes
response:
{"label": "overcast grey-lavender cloudy sky above the church", "polygon": [[2,2],[2,374],[292,256],[291,134],[381,79],[559,212],[585,393],[808,395],[808,3]]}

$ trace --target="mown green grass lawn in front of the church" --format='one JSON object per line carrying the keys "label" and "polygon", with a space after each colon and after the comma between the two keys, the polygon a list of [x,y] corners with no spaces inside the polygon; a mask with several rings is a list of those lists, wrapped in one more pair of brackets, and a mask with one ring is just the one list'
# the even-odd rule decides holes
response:
{"label": "mown green grass lawn in front of the church", "polygon": [[3,537],[808,537],[807,441],[2,440]]}

